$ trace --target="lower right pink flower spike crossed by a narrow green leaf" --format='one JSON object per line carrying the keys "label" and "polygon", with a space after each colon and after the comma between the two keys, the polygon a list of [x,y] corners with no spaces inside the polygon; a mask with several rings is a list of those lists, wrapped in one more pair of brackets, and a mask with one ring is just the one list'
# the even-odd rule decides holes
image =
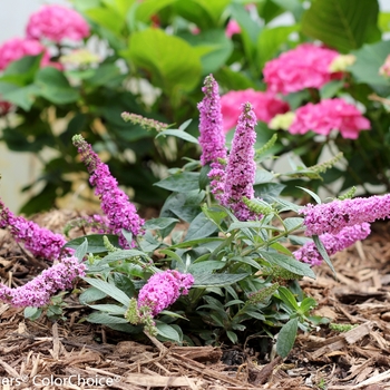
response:
{"label": "lower right pink flower spike crossed by a narrow green leaf", "polygon": [[[357,241],[367,238],[370,233],[370,224],[362,223],[353,226],[345,226],[337,234],[321,234],[320,240],[323,243],[328,255],[331,256],[337,252],[351,246]],[[296,260],[312,266],[322,264],[322,256],[313,242],[304,244],[298,251],[293,252],[293,255]]]}

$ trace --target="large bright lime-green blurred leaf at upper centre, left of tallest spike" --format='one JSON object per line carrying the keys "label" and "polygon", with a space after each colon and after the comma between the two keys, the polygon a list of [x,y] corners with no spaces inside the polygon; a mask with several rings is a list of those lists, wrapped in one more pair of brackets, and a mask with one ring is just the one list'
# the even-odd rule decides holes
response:
{"label": "large bright lime-green blurred leaf at upper centre, left of tallest spike", "polygon": [[160,29],[146,29],[130,36],[124,56],[150,72],[153,85],[172,94],[192,90],[201,78],[201,60],[195,49]]}

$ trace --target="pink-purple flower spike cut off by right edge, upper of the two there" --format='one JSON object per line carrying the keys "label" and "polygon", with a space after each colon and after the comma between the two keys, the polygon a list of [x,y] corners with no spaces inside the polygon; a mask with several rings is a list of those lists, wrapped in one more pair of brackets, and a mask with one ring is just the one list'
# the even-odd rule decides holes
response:
{"label": "pink-purple flower spike cut off by right edge, upper of the two there", "polygon": [[309,204],[300,211],[304,215],[305,234],[338,234],[347,226],[372,223],[390,216],[390,194],[355,197],[353,199]]}

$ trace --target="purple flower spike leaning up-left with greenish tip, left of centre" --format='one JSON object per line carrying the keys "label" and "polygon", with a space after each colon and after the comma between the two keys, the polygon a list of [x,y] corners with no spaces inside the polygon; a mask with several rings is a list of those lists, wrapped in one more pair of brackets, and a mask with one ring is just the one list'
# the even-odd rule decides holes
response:
{"label": "purple flower spike leaning up-left with greenish tip, left of centre", "polygon": [[95,195],[100,198],[100,207],[108,218],[108,232],[119,236],[119,244],[128,247],[121,230],[137,236],[143,232],[144,220],[137,214],[135,205],[118,188],[117,179],[110,174],[107,164],[103,163],[91,146],[79,135],[72,138],[74,145],[81,155],[81,160],[90,174],[89,183],[95,186]]}

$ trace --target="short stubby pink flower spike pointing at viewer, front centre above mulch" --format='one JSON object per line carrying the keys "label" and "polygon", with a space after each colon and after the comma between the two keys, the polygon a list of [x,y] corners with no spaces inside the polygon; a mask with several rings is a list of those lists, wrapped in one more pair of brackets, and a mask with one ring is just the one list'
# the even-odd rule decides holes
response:
{"label": "short stubby pink flower spike pointing at viewer, front centre above mulch", "polygon": [[[182,274],[178,271],[164,271],[154,274],[139,290],[138,309],[157,315],[173,304],[181,295],[188,294],[194,284],[192,274]],[[144,310],[142,310],[144,309]]]}

